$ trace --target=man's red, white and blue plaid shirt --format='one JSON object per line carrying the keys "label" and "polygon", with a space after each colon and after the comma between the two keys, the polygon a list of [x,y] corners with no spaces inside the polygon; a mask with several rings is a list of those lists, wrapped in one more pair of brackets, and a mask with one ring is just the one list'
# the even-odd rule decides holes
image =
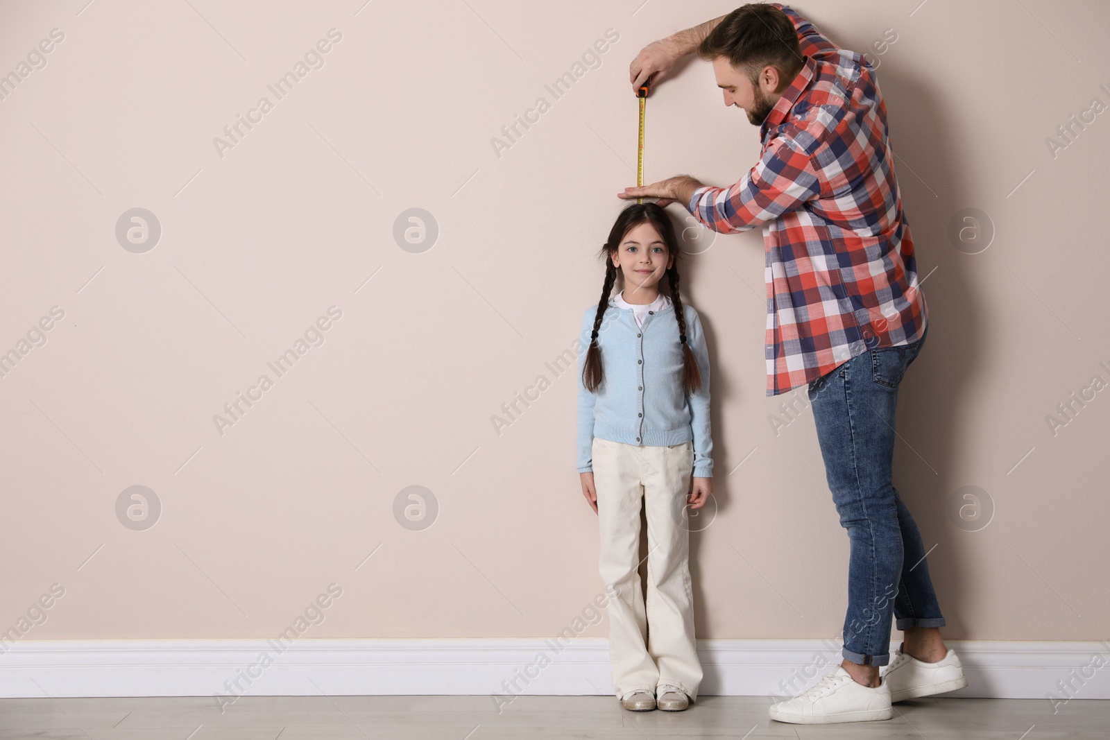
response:
{"label": "man's red, white and blue plaid shirt", "polygon": [[871,347],[909,344],[927,321],[875,70],[790,8],[805,67],[759,129],[759,162],[687,210],[725,234],[763,224],[767,395]]}

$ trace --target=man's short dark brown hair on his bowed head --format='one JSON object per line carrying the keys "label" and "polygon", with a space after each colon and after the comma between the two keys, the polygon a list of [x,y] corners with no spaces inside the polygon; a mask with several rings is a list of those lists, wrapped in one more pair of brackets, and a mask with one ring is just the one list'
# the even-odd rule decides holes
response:
{"label": "man's short dark brown hair on his bowed head", "polygon": [[794,23],[778,8],[753,2],[725,16],[697,48],[698,57],[713,61],[726,57],[747,72],[753,84],[770,64],[778,70],[779,90],[801,71],[801,48]]}

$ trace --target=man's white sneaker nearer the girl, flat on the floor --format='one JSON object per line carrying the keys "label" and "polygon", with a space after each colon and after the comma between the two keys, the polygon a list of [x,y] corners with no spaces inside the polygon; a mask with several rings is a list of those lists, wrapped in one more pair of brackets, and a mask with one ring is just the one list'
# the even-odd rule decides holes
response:
{"label": "man's white sneaker nearer the girl, flat on the floor", "polygon": [[882,679],[877,688],[868,688],[837,666],[813,688],[793,699],[770,707],[770,718],[796,724],[829,724],[833,722],[862,722],[894,717],[890,708],[890,688]]}

